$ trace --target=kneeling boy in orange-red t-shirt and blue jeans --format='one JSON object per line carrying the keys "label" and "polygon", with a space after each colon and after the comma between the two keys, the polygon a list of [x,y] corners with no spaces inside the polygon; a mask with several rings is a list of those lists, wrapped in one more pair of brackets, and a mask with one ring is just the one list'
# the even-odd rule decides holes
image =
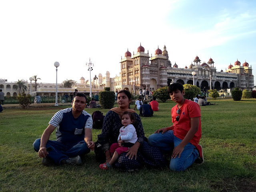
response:
{"label": "kneeling boy in orange-red t-shirt and blue jeans", "polygon": [[[174,83],[168,88],[171,99],[177,103],[172,108],[173,125],[156,130],[148,143],[158,146],[164,154],[172,152],[170,169],[184,171],[194,162],[204,162],[201,138],[201,111],[198,104],[184,98],[182,84]],[[173,151],[172,151],[173,150]]]}

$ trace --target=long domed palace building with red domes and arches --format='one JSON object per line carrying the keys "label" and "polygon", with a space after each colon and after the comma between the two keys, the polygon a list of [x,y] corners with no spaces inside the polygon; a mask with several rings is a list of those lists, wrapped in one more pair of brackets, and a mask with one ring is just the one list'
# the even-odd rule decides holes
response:
{"label": "long domed palace building with red domes and arches", "polygon": [[[169,60],[168,51],[164,45],[163,51],[159,47],[154,52],[154,56],[149,56],[145,53],[144,47],[137,48],[137,53],[131,54],[127,51],[124,53],[124,58],[121,56],[120,74],[114,78],[110,78],[110,72],[106,72],[106,76],[99,74],[95,75],[91,80],[92,93],[99,93],[104,90],[104,87],[110,87],[110,90],[116,92],[123,89],[129,90],[138,94],[140,89],[147,88],[150,91],[156,90],[160,87],[169,86],[172,82],[179,82],[181,84],[195,84],[201,90],[204,86],[206,89],[227,90],[235,87],[243,89],[254,88],[254,76],[252,75],[252,66],[245,61],[241,65],[240,61],[236,61],[234,66],[230,64],[228,69],[224,72],[218,72],[214,66],[212,58],[208,62],[202,62],[198,56],[193,60],[194,64],[188,67],[178,67]],[[192,72],[195,72],[194,77]],[[194,82],[193,82],[194,78]],[[30,82],[24,81],[28,87],[26,93],[30,93]],[[211,83],[211,86],[210,86]],[[8,82],[5,79],[0,79],[0,89],[5,93],[5,96],[17,96],[18,90],[16,82]],[[80,78],[80,83],[75,84],[72,88],[64,88],[63,84],[59,83],[58,95],[84,92],[86,95],[90,93],[90,82],[84,77]],[[37,90],[34,84],[32,85],[32,96],[39,94],[40,96],[55,96],[55,83],[38,83]]]}

